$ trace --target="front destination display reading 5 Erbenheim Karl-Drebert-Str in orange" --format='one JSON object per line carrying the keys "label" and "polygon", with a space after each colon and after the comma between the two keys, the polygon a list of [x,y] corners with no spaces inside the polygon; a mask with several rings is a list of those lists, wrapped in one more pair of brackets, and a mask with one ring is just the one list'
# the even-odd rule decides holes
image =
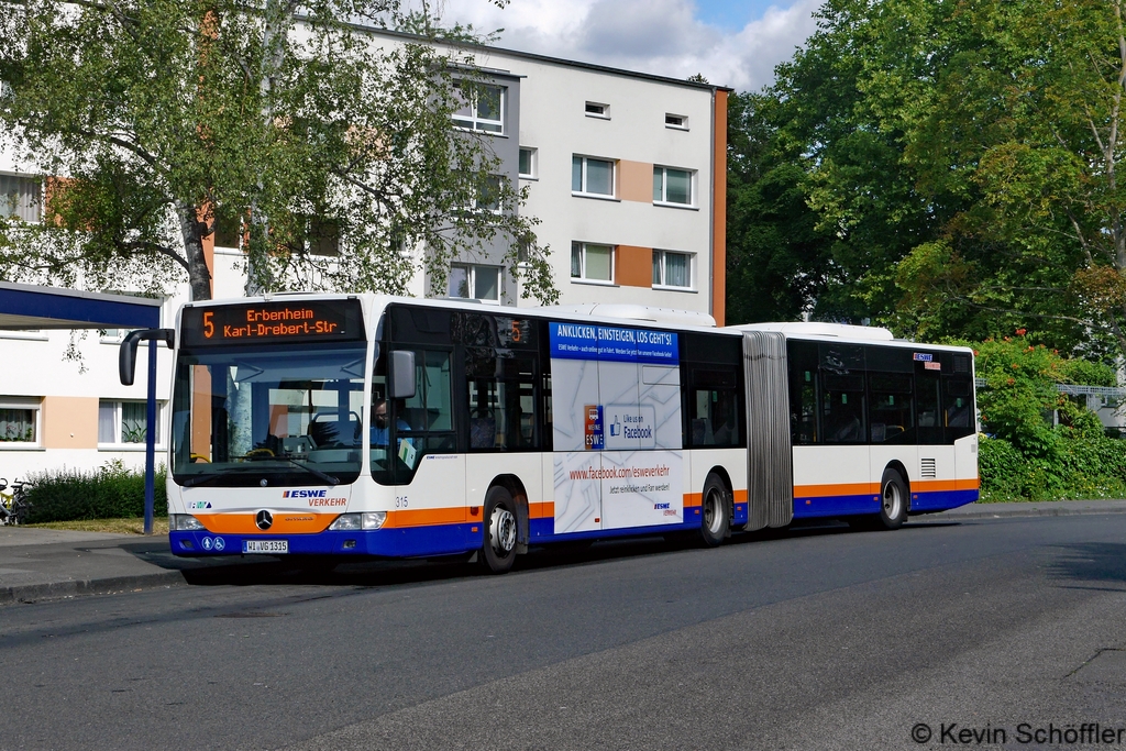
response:
{"label": "front destination display reading 5 Erbenheim Karl-Drebert-Str in orange", "polygon": [[358,299],[188,307],[180,337],[185,347],[360,341],[363,312]]}

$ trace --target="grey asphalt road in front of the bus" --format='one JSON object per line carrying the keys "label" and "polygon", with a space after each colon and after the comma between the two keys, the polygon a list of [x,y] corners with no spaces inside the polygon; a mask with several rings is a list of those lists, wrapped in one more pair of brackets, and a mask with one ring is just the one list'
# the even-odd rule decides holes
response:
{"label": "grey asphalt road in front of the bus", "polygon": [[1126,515],[518,566],[0,608],[0,749],[1126,748]]}

